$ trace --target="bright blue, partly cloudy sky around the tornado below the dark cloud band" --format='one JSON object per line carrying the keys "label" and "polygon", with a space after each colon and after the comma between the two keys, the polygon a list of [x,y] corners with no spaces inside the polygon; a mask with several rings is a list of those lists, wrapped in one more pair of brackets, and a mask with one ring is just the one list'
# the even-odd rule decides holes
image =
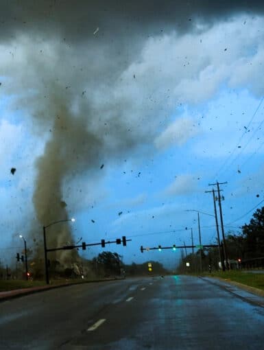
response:
{"label": "bright blue, partly cloudy sky around the tornado below the dark cloud band", "polygon": [[[114,65],[104,42],[93,52],[90,39],[71,47],[59,36],[38,40],[33,34],[17,34],[1,43],[3,259],[16,253],[11,247],[21,244],[18,233],[30,242],[32,228],[41,237],[41,226],[47,224],[36,215],[32,197],[36,159],[52,139],[56,118],[47,89],[53,80],[63,86],[58,97],[67,99],[73,120],[88,108],[92,111],[87,130],[104,144],[99,159],[81,166],[72,160],[78,170],[67,168],[61,179],[61,199],[67,202],[67,215],[76,219],[75,240],[125,235],[132,239],[127,247],[109,246],[125,262],[158,259],[171,266],[180,252],[141,254],[140,246],[190,244],[191,227],[198,243],[197,214],[186,210],[212,214],[212,196],[205,191],[216,180],[228,182],[221,186],[226,232],[239,231],[253,211],[243,215],[263,200],[263,24],[263,16],[237,14],[210,27],[194,22],[193,32],[168,27],[142,40],[137,56],[125,56],[125,64],[104,78],[99,70],[107,72]],[[84,54],[76,54],[76,47]],[[77,73],[75,67],[88,70]],[[115,130],[109,126],[105,131],[111,123]],[[60,144],[62,150],[65,146]],[[11,167],[16,167],[14,176]],[[214,218],[201,214],[200,219],[202,242],[215,242]],[[91,258],[100,251],[91,248],[82,254]]]}

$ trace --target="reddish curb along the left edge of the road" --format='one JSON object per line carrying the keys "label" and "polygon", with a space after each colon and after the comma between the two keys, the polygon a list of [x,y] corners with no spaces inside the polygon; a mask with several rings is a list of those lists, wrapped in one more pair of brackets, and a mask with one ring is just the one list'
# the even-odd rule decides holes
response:
{"label": "reddish curb along the left edge of the road", "polygon": [[[77,284],[85,284],[85,283],[99,283],[99,282],[110,282],[110,281],[121,281],[121,279],[96,279],[92,281],[83,281],[83,282],[73,282],[73,283],[63,283],[58,285],[44,285],[43,287],[33,287],[30,289],[20,289],[20,290],[7,290],[6,293],[10,293],[7,295],[0,295],[0,303],[2,301],[8,301],[10,299],[16,299],[21,296],[29,295],[29,294],[35,294],[39,292],[45,292],[46,290],[56,289],[56,288],[62,288],[62,287],[69,287],[70,285],[77,285]],[[12,293],[13,292],[13,293]],[[4,293],[4,292],[3,292]]]}

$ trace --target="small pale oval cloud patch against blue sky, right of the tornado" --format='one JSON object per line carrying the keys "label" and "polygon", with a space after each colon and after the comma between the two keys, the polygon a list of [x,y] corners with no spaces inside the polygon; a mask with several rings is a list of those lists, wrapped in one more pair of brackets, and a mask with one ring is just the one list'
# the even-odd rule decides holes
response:
{"label": "small pale oval cloud patch against blue sky, right of the tornado", "polygon": [[156,137],[154,140],[156,148],[163,150],[171,145],[183,145],[191,137],[197,135],[198,130],[193,124],[194,121],[191,118],[176,119]]}

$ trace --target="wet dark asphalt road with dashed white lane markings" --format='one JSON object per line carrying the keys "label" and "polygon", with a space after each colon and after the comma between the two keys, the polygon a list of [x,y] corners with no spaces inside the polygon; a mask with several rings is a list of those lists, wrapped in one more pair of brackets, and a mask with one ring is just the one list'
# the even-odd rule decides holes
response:
{"label": "wet dark asphalt road with dashed white lane markings", "polygon": [[73,285],[0,303],[0,349],[264,349],[264,299],[197,277]]}

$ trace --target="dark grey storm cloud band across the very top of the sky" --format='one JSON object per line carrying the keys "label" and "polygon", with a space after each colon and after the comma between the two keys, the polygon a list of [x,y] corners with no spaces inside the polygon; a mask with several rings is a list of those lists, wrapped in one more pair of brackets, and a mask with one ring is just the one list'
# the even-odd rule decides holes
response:
{"label": "dark grey storm cloud band across the very top of the sky", "polygon": [[8,40],[17,32],[43,30],[67,40],[83,40],[99,27],[101,39],[113,33],[155,34],[171,27],[191,30],[195,18],[207,23],[238,12],[263,12],[263,1],[1,1],[0,35]]}

